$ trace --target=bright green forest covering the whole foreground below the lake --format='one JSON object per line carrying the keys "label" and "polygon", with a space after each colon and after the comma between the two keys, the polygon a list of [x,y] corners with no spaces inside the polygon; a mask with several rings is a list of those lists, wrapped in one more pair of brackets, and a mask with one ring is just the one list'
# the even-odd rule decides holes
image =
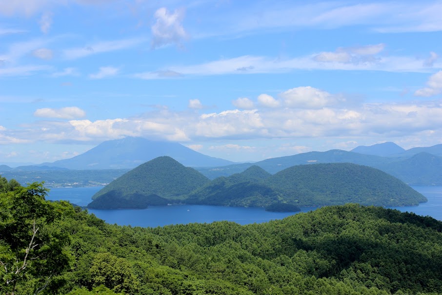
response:
{"label": "bright green forest covering the whole foreground below the lake", "polygon": [[0,178],[7,295],[441,294],[442,222],[358,204],[282,220],[139,228]]}

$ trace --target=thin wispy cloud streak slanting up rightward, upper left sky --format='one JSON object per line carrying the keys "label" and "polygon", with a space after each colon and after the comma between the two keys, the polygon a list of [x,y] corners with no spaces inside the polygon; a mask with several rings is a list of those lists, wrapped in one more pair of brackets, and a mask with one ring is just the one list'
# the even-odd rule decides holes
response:
{"label": "thin wispy cloud streak slanting up rightward, upper left sky", "polygon": [[84,47],[66,49],[63,51],[63,56],[68,60],[79,59],[93,54],[133,48],[144,41],[142,38],[133,38],[98,42]]}

